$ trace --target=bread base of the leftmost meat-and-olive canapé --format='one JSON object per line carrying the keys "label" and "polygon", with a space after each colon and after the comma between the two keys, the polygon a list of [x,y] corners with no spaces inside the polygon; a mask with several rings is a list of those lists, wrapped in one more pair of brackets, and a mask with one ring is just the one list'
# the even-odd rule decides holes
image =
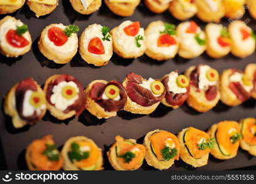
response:
{"label": "bread base of the leftmost meat-and-olive canap\u00e9", "polygon": [[[15,91],[17,89],[17,86],[18,86],[18,83],[16,85],[14,85],[9,90],[9,92],[6,94],[6,98],[4,100],[4,112],[7,115],[9,115],[10,117],[12,117],[12,124],[14,125],[14,128],[22,128],[23,126],[27,125],[28,122],[21,119],[20,115],[18,115],[18,112],[16,110],[16,106],[15,106],[14,101],[15,101]],[[36,86],[37,86],[37,91],[45,96],[45,93],[41,89],[41,86],[38,85],[37,83],[36,83]],[[42,119],[42,117],[44,117],[44,115],[46,113],[46,110],[47,109],[42,111],[42,113],[39,117],[39,120]]]}

